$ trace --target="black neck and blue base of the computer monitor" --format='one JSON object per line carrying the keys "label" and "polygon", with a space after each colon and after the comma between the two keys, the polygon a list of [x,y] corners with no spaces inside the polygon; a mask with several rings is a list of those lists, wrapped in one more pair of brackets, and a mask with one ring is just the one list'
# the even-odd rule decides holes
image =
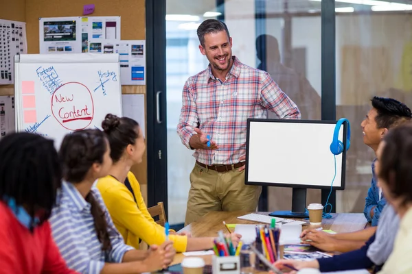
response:
{"label": "black neck and blue base of the computer monitor", "polygon": [[269,216],[282,218],[309,218],[306,213],[306,188],[293,188],[292,192],[292,211],[275,211]]}

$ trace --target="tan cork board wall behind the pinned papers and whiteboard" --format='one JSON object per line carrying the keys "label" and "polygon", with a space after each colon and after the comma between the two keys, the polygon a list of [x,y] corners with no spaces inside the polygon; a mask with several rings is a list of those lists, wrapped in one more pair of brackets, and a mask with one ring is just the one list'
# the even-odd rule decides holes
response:
{"label": "tan cork board wall behind the pinned papers and whiteboard", "polygon": [[[0,0],[3,2],[3,0]],[[26,22],[27,53],[39,53],[38,18],[60,16],[82,16],[83,6],[90,0],[13,0],[1,5],[0,18]],[[145,0],[98,0],[94,1],[95,11],[87,16],[121,16],[122,40],[146,39]],[[122,86],[123,94],[144,94],[146,86]],[[14,86],[0,86],[0,95],[14,95]],[[142,185],[142,195],[146,198],[147,160],[146,153],[141,164],[133,166],[132,172]],[[145,199],[146,200],[146,199]]]}

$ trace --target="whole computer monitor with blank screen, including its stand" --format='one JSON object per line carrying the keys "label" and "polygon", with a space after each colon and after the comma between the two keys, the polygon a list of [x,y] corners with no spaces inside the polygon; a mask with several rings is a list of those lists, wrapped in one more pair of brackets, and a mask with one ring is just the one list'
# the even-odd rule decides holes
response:
{"label": "whole computer monitor with blank screen, including its stand", "polygon": [[[292,211],[271,216],[308,218],[306,188],[345,189],[346,149],[330,151],[336,121],[248,119],[245,184],[293,188]],[[346,148],[347,123],[339,130]],[[336,163],[335,163],[336,157]],[[323,205],[325,206],[325,205]]]}

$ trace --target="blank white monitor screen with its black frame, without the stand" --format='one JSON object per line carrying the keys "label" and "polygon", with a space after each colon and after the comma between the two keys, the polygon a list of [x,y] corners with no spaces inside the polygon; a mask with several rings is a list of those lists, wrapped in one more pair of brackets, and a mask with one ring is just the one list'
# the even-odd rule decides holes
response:
{"label": "blank white monitor screen with its black frame, without the stand", "polygon": [[[268,184],[330,186],[334,155],[330,152],[335,124],[251,121],[247,181]],[[343,126],[339,140],[343,137]],[[341,187],[342,153],[336,155],[336,178]]]}

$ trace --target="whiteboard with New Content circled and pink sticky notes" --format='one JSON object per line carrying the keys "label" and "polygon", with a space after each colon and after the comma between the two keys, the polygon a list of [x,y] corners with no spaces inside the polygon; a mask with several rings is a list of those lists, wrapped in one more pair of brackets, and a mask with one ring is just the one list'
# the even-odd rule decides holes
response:
{"label": "whiteboard with New Content circled and pink sticky notes", "polygon": [[122,116],[119,55],[27,54],[15,59],[16,131],[55,140]]}

